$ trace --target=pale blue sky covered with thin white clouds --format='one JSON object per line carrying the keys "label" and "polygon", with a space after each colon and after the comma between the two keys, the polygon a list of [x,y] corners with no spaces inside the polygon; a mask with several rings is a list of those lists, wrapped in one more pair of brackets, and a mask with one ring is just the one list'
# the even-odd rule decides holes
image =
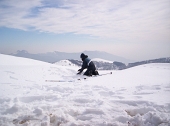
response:
{"label": "pale blue sky covered with thin white clouds", "polygon": [[0,53],[170,57],[170,0],[0,0]]}

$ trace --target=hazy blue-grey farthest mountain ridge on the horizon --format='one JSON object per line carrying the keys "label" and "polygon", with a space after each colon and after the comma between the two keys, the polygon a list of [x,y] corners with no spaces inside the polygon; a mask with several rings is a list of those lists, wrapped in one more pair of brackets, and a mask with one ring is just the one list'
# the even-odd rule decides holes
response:
{"label": "hazy blue-grey farthest mountain ridge on the horizon", "polygon": [[[80,54],[79,53],[65,53],[65,52],[47,52],[47,53],[38,53],[38,54],[31,54],[28,53],[25,50],[19,50],[16,53],[13,53],[11,55],[13,56],[18,56],[18,57],[25,57],[25,58],[31,58],[35,60],[40,60],[44,62],[49,62],[49,63],[55,63],[60,60],[65,60],[65,59],[77,59],[80,60]],[[110,61],[118,61],[118,62],[123,62],[123,63],[130,63],[133,62],[132,60],[125,59],[123,57],[115,56],[110,53],[106,52],[100,52],[100,51],[84,51],[86,55],[88,55],[91,59],[92,58],[101,58],[105,60],[110,60]]]}

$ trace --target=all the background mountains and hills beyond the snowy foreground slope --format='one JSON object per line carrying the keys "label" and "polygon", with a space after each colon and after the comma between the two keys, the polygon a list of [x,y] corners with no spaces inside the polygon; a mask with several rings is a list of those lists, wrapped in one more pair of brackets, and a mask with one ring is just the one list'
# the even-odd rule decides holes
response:
{"label": "all the background mountains and hills beyond the snowy foreground slope", "polygon": [[[132,60],[128,60],[106,52],[84,51],[83,53],[88,55],[91,59],[96,59],[96,58],[101,59],[101,60],[93,61],[98,70],[122,70],[122,69],[127,69],[130,67],[148,64],[148,63],[170,63],[170,57],[134,62]],[[82,64],[82,61],[80,60],[80,54],[81,53],[65,53],[65,52],[57,52],[57,51],[41,53],[41,54],[31,54],[25,50],[22,50],[22,51],[17,51],[17,53],[11,55],[31,58],[31,59],[40,60],[49,63],[55,63],[55,64],[65,63],[65,65],[75,65],[80,67]],[[67,60],[69,62],[61,61],[61,60]]]}

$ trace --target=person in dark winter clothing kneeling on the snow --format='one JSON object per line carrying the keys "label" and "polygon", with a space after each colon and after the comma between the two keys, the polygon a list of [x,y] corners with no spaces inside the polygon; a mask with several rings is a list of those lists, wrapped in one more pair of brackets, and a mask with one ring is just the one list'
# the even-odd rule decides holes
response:
{"label": "person in dark winter clothing kneeling on the snow", "polygon": [[82,53],[80,55],[80,58],[83,61],[83,64],[82,64],[81,69],[78,70],[77,74],[81,74],[83,72],[83,70],[87,68],[87,70],[85,71],[84,75],[86,75],[86,76],[99,75],[99,73],[96,70],[96,67],[95,67],[93,61],[90,58],[88,58],[87,55]]}

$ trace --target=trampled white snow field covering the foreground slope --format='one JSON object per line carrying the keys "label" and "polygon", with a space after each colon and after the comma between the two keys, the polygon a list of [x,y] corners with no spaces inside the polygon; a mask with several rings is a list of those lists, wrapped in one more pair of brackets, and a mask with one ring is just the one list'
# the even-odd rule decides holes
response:
{"label": "trampled white snow field covering the foreground slope", "polygon": [[0,126],[170,126],[170,64],[83,79],[74,66],[0,59]]}

